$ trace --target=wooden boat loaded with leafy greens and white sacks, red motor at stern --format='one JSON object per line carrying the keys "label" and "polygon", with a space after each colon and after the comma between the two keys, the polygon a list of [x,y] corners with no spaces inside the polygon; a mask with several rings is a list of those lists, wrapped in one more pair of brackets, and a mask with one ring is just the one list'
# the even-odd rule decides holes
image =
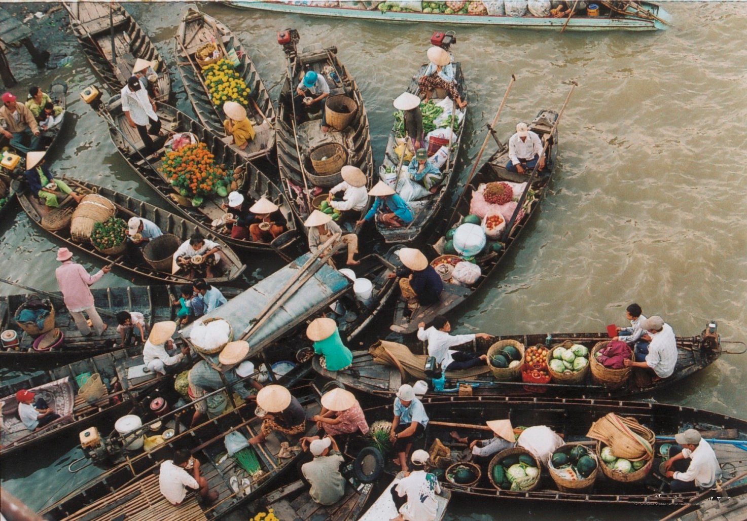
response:
{"label": "wooden boat loaded with leafy greens and white sacks, red motor at stern", "polygon": [[[413,76],[409,86],[407,87],[407,92],[418,96],[420,90],[418,87],[418,78],[424,75],[428,65],[429,63],[424,63],[421,68],[418,69],[418,74]],[[459,96],[462,98],[462,101],[467,102],[467,84],[464,75],[462,74],[462,63],[456,61],[452,63],[452,66],[454,68],[456,90],[459,91]],[[448,99],[445,92],[443,93],[443,96]],[[433,96],[431,96],[431,100],[434,103],[438,103],[443,100],[442,98],[438,97],[438,90],[436,90]],[[452,102],[454,107],[456,108],[456,101],[452,100]],[[461,149],[462,146],[462,134],[464,133],[464,128],[467,123],[468,108],[469,107],[465,107],[464,109],[460,110],[460,112],[464,114],[464,119],[462,119],[462,122],[458,125],[459,128],[453,128],[453,132],[454,134],[456,134],[456,139],[454,139],[450,144],[449,157],[444,166],[441,167],[441,172],[444,175],[444,180],[441,181],[441,184],[438,185],[436,193],[430,193],[422,199],[418,199],[417,201],[408,203],[410,210],[412,210],[413,220],[406,226],[403,226],[401,228],[389,228],[382,222],[376,221],[376,230],[379,231],[379,234],[381,234],[382,237],[384,237],[385,243],[418,243],[421,237],[423,237],[424,234],[427,233],[427,231],[430,231],[430,228],[433,227],[433,225],[435,224],[434,221],[436,220],[436,216],[438,216],[441,208],[444,206],[444,204],[447,204],[448,199],[453,196],[450,188],[453,182],[456,181],[456,176],[454,176],[453,173],[456,169],[456,160],[459,158],[459,149]],[[400,157],[398,157],[396,152],[394,152],[394,148],[397,146],[397,137],[404,137],[404,129],[397,128],[397,122],[395,121],[394,126],[389,133],[389,139],[386,143],[386,151],[384,152],[384,160],[382,162],[382,165],[385,169],[396,172],[396,174],[399,176],[402,175],[400,172],[397,172],[397,165],[400,164]],[[402,163],[402,165],[405,168],[407,167],[407,164],[405,163]]]}

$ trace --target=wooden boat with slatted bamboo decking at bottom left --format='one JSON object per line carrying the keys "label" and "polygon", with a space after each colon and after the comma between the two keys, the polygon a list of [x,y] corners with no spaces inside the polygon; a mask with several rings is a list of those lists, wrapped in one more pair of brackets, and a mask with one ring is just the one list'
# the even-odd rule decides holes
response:
{"label": "wooden boat with slatted bamboo decking at bottom left", "polygon": [[[317,396],[310,387],[296,387],[293,390],[301,405],[306,409],[306,417],[320,411]],[[295,467],[302,454],[296,452],[291,458],[279,458],[280,443],[294,440],[274,431],[267,439],[254,446],[261,475],[249,475],[235,458],[223,458],[226,446],[223,437],[232,431],[250,436],[258,433],[261,418],[254,414],[255,404],[243,402],[212,421],[203,422],[196,428],[175,434],[150,452],[143,452],[128,458],[120,464],[89,481],[79,490],[69,494],[43,511],[49,520],[93,520],[117,514],[126,514],[128,520],[144,520],[158,516],[164,520],[196,521],[220,518],[258,496],[272,490],[273,484],[282,474]],[[317,431],[314,422],[306,422],[306,435]],[[190,449],[200,461],[201,475],[208,481],[211,490],[217,491],[218,499],[207,506],[197,501],[196,494],[190,494],[181,505],[173,506],[158,490],[158,476],[154,472],[161,461],[171,458],[176,449]],[[238,479],[239,490],[234,492],[230,478]],[[249,479],[242,485],[243,479]]]}

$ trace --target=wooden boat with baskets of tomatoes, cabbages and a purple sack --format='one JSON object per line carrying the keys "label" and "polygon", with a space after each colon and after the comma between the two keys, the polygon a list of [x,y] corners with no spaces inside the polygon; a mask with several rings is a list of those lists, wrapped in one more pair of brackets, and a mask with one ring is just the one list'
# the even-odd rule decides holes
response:
{"label": "wooden boat with baskets of tomatoes, cabbages and a purple sack", "polygon": [[[570,340],[586,346],[591,352],[592,348],[599,342],[610,340],[606,333],[552,333],[552,345]],[[543,334],[516,334],[500,335],[490,340],[476,339],[472,348],[480,353],[486,354],[493,343],[500,340],[515,340],[525,347],[545,345],[547,336]],[[521,381],[498,381],[490,372],[482,375],[467,375],[463,372],[447,372],[447,387],[444,390],[429,390],[427,396],[454,396],[458,391],[458,384],[469,384],[474,396],[536,396],[546,393],[548,396],[583,396],[584,398],[627,398],[637,394],[650,394],[664,387],[679,384],[685,378],[710,366],[719,359],[722,354],[739,355],[741,352],[728,351],[722,348],[720,337],[707,335],[706,331],[693,337],[677,337],[678,361],[675,372],[669,378],[651,381],[645,374],[632,375],[627,383],[619,389],[608,389],[601,384],[595,384],[592,376],[586,376],[586,380],[580,384],[533,384]],[[741,342],[740,342],[741,343]],[[374,344],[371,349],[375,349]],[[464,346],[462,346],[464,347]],[[467,348],[467,350],[471,350]],[[420,349],[410,349],[411,352],[420,352]],[[416,374],[407,371],[406,365],[397,367],[380,364],[373,359],[368,351],[353,352],[353,366],[351,370],[330,372],[323,369],[319,361],[314,358],[314,371],[318,374],[341,382],[346,387],[361,390],[376,396],[386,396],[394,399],[394,394],[401,384],[413,383],[415,380],[425,378],[422,367],[426,355],[412,355],[413,361],[417,361],[419,369]],[[400,361],[401,362],[401,361]],[[421,363],[422,362],[422,363]],[[428,378],[425,378],[428,379]],[[453,384],[450,385],[450,384]]]}

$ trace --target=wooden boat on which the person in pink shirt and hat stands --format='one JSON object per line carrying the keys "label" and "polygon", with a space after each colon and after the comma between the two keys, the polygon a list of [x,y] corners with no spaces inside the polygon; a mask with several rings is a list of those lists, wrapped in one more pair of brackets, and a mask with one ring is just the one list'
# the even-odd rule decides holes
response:
{"label": "wooden boat on which the person in pink shirt and hat stands", "polygon": [[[120,343],[117,333],[116,315],[119,311],[139,311],[143,313],[146,324],[152,325],[162,320],[173,319],[171,307],[171,293],[168,286],[125,286],[92,288],[93,304],[99,311],[102,320],[108,328],[101,337],[84,337],[75,322],[64,307],[62,293],[55,292],[57,299],[50,302],[55,308],[55,327],[63,334],[61,347],[50,351],[37,351],[33,348],[34,337],[26,333],[13,316],[16,310],[24,304],[31,293],[0,296],[0,330],[12,329],[18,334],[19,349],[1,349],[0,361],[7,367],[22,362],[25,367],[53,366],[65,364],[81,358],[114,351]],[[128,344],[138,343],[138,338],[125,337]]]}

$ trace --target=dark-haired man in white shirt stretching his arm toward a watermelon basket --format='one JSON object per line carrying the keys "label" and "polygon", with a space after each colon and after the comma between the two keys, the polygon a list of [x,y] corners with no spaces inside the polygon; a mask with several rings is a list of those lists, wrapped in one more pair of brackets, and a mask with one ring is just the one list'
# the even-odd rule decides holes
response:
{"label": "dark-haired man in white shirt stretching his arm toward a watermelon basket", "polygon": [[486,355],[474,352],[456,351],[449,349],[471,342],[475,338],[490,338],[486,333],[449,334],[451,324],[445,316],[438,315],[431,322],[430,328],[425,329],[425,322],[418,324],[418,340],[428,342],[428,355],[436,358],[436,362],[443,371],[458,371],[486,363]]}

